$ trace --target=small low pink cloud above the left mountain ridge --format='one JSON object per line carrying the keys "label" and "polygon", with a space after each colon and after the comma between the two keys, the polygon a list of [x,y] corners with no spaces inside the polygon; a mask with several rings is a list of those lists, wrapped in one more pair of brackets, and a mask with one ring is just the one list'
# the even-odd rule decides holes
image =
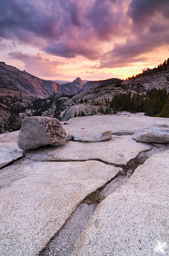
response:
{"label": "small low pink cloud above the left mountain ridge", "polygon": [[9,52],[11,59],[23,61],[24,68],[27,72],[34,74],[36,71],[37,76],[61,76],[63,74],[58,73],[58,66],[66,65],[68,63],[57,60],[50,60],[37,53],[36,55],[24,54],[19,52]]}

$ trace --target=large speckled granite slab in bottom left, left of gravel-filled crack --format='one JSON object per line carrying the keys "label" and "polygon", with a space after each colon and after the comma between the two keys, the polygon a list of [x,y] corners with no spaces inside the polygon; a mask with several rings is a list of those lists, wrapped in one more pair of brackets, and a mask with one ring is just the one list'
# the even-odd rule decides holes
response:
{"label": "large speckled granite slab in bottom left, left of gravel-filled crack", "polygon": [[76,206],[115,177],[121,168],[98,161],[22,162],[4,168],[0,179],[19,172],[0,190],[0,255],[36,256]]}

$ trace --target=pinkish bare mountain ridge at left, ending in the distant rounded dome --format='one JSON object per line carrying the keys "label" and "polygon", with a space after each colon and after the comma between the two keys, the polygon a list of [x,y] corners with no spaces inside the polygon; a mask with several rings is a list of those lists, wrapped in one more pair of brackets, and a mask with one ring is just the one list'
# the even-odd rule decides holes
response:
{"label": "pinkish bare mountain ridge at left, ending in the distant rounded dome", "polygon": [[43,80],[26,71],[0,62],[0,88],[29,93],[38,98],[46,98],[52,94],[76,94],[83,88],[83,82],[76,78],[71,83],[58,84],[50,80]]}

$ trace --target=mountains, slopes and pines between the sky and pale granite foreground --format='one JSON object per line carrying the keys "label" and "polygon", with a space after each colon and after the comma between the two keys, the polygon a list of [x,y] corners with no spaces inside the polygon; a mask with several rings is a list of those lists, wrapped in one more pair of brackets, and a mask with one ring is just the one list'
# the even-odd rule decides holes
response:
{"label": "mountains, slopes and pines between the sky and pale granite foreground", "polygon": [[[160,91],[159,91],[160,90]],[[0,63],[0,131],[16,131],[27,116],[67,121],[76,116],[145,112],[168,116],[169,59],[126,80],[111,78],[57,84]],[[166,103],[166,104],[165,104]]]}

